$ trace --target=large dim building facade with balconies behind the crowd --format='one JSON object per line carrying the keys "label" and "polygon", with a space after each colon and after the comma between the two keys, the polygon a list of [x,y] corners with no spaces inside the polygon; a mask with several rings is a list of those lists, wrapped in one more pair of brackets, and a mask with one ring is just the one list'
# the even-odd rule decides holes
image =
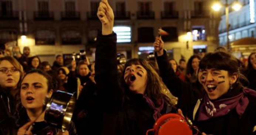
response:
{"label": "large dim building facade with balconies behind the crowd", "polygon": [[[96,16],[100,0],[1,0],[0,44],[17,41],[33,55],[52,62],[86,49],[91,60],[101,30]],[[127,58],[146,58],[153,51],[157,30],[171,58],[211,52],[219,44],[220,16],[211,11],[213,0],[109,0],[115,14],[118,52]],[[188,33],[188,34],[187,34]],[[26,35],[21,38],[21,35]]]}

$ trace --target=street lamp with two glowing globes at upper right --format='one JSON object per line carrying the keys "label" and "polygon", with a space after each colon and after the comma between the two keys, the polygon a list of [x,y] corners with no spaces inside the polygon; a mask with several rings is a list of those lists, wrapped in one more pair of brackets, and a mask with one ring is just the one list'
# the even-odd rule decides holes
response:
{"label": "street lamp with two glowing globes at upper right", "polygon": [[228,0],[225,0],[225,4],[221,3],[219,0],[216,0],[216,2],[214,3],[214,5],[212,6],[212,9],[214,11],[219,11],[221,9],[222,6],[225,6],[225,14],[226,14],[226,30],[227,30],[227,48],[228,50],[231,49],[230,45],[229,45],[229,6],[232,6],[232,8],[235,11],[240,10],[240,8],[242,7],[241,4],[239,4],[238,0],[233,1],[232,3],[228,4]]}

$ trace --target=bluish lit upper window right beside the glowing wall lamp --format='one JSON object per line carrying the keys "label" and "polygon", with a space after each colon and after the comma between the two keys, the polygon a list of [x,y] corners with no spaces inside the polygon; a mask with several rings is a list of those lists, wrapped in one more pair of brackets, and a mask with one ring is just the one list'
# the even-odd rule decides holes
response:
{"label": "bluish lit upper window right beside the glowing wall lamp", "polygon": [[192,39],[193,41],[206,40],[206,30],[204,26],[193,26],[192,27]]}

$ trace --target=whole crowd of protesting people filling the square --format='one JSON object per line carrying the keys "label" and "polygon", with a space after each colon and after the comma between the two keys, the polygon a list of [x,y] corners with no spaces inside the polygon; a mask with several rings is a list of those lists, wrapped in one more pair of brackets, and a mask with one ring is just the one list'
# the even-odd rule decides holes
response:
{"label": "whole crowd of protesting people filling the square", "polygon": [[[167,113],[190,118],[202,135],[256,135],[256,52],[247,66],[223,47],[177,63],[156,37],[153,59],[120,60],[107,0],[97,15],[93,63],[65,66],[57,55],[51,66],[29,47],[1,52],[1,135],[146,135]],[[44,121],[45,98],[55,90],[78,93],[65,132]]]}

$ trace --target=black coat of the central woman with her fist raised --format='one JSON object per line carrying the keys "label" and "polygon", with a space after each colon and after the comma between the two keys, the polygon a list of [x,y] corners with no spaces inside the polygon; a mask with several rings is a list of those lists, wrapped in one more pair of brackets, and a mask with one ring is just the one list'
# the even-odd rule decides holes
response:
{"label": "black coat of the central woman with her fist raised", "polygon": [[[99,34],[95,57],[98,91],[95,110],[98,114],[91,114],[88,123],[93,124],[85,134],[145,135],[148,129],[153,128],[154,110],[142,94],[123,95],[118,82],[116,57],[116,34]],[[129,100],[124,97],[129,97]]]}

